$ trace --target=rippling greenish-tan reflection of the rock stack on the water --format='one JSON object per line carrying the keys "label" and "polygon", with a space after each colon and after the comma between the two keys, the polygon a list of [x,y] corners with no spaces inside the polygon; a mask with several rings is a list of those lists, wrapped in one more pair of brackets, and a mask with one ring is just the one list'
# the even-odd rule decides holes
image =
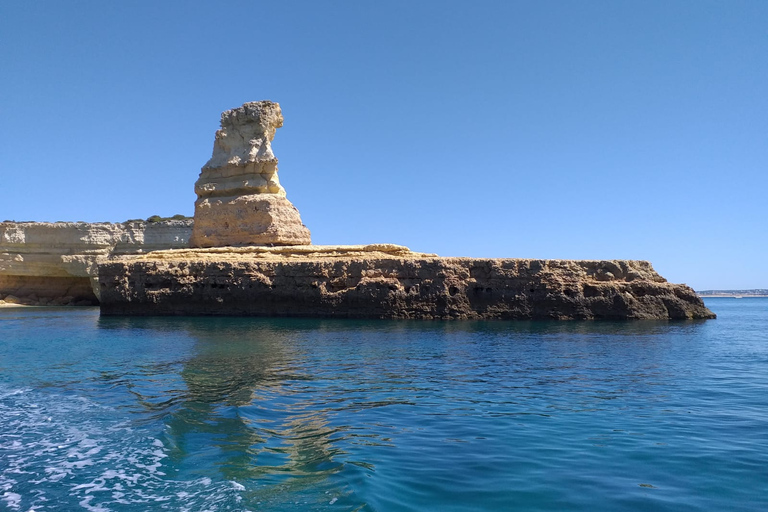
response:
{"label": "rippling greenish-tan reflection of the rock stack on the water", "polygon": [[292,397],[313,378],[297,366],[289,333],[247,324],[190,322],[184,329],[196,342],[181,371],[187,392],[166,419],[177,464],[208,466],[196,460],[206,454],[194,453],[203,442],[219,450],[217,466],[227,480],[322,478],[339,469],[333,457],[343,452],[331,437],[343,427],[330,427],[324,410]]}

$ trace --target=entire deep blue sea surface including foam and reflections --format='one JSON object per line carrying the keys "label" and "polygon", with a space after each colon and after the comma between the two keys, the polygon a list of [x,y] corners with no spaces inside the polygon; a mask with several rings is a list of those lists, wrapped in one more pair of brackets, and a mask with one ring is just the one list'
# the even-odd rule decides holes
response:
{"label": "entire deep blue sea surface including foam and reflections", "polygon": [[0,510],[768,510],[768,299],[690,322],[0,309]]}

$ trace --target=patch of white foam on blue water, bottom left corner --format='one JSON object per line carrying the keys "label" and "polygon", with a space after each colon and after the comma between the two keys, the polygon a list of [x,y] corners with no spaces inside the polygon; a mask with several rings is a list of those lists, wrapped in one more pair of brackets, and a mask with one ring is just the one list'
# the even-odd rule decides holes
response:
{"label": "patch of white foam on blue water, bottom left corner", "polygon": [[[162,471],[169,458],[168,441],[132,428],[118,410],[72,396],[2,391],[0,387],[0,397],[10,396],[0,400],[3,510],[47,509],[58,502],[62,508],[77,509],[79,504],[92,512],[139,504],[197,512],[244,502],[240,493],[246,487],[234,480],[168,479]],[[29,405],[33,402],[37,407]],[[16,479],[33,485],[33,494],[13,492]]]}

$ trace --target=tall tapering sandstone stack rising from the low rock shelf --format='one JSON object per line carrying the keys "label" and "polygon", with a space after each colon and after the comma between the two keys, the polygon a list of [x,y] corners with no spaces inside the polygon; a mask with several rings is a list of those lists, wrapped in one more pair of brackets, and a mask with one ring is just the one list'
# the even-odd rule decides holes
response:
{"label": "tall tapering sandstone stack rising from the low rock shelf", "polygon": [[285,197],[271,142],[280,105],[245,103],[221,115],[213,156],[195,183],[192,247],[305,245],[310,234]]}

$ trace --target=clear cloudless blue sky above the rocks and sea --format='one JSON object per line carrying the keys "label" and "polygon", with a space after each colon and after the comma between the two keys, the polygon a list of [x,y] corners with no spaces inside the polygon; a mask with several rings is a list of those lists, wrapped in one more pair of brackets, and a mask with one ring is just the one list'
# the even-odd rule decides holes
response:
{"label": "clear cloudless blue sky above the rocks and sea", "polygon": [[0,2],[0,220],[194,212],[222,111],[316,244],[768,288],[768,2]]}

